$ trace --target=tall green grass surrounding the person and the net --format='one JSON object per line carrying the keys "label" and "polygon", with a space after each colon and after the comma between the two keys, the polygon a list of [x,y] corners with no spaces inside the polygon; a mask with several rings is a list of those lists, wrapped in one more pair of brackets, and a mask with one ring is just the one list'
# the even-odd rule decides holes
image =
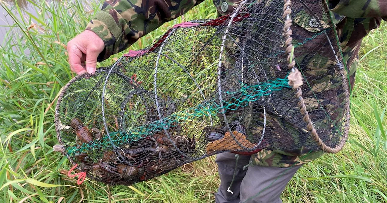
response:
{"label": "tall green grass surrounding the person and the net", "polygon": [[[55,99],[75,76],[68,68],[65,44],[84,29],[101,5],[82,7],[78,0],[27,2],[37,14],[10,12],[14,29],[7,32],[10,40],[4,40],[0,49],[0,201],[107,202],[111,194],[112,202],[213,202],[219,185],[214,157],[130,187],[109,188],[90,180],[79,187],[65,175],[71,165],[52,150],[57,143]],[[214,17],[212,2],[205,1],[130,49],[144,48],[173,24]],[[284,202],[387,202],[386,122],[382,119],[387,107],[386,36],[384,23],[363,40],[349,142],[338,154],[324,155],[302,167],[282,194]],[[120,55],[98,65],[110,65]]]}

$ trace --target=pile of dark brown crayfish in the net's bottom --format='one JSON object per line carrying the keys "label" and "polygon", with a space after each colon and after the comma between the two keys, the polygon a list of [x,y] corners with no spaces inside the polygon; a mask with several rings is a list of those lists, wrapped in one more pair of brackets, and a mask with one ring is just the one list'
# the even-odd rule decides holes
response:
{"label": "pile of dark brown crayfish in the net's bottom", "polygon": [[[77,147],[82,146],[83,143],[89,144],[102,139],[98,129],[89,130],[77,118],[72,119],[71,128],[78,137]],[[104,178],[106,182],[133,176],[139,176],[138,181],[143,181],[147,179],[147,172],[157,174],[168,166],[169,157],[177,153],[173,146],[182,148],[186,154],[194,152],[195,140],[181,136],[179,128],[176,124],[168,130],[168,133],[173,135],[171,140],[162,133],[156,133],[143,139],[128,140],[126,145],[116,150],[101,152],[100,156],[96,156],[97,160],[93,160],[87,152],[77,153],[74,157],[80,162],[80,167],[93,176]],[[110,175],[106,177],[106,174]]]}

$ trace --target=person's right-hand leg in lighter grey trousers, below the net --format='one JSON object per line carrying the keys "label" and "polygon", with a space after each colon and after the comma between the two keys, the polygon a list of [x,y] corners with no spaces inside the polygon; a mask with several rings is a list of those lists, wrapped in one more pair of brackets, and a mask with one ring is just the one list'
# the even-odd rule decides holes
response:
{"label": "person's right-hand leg in lighter grey trousers, below the net", "polygon": [[249,166],[240,186],[240,203],[282,203],[279,196],[300,167]]}

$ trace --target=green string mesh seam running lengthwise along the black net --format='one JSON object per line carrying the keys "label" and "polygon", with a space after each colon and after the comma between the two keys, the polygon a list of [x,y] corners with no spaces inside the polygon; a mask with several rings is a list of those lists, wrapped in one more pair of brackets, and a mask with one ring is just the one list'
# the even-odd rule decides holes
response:
{"label": "green string mesh seam running lengthwise along the black net", "polygon": [[[246,107],[250,102],[259,101],[263,96],[268,96],[275,91],[282,90],[283,88],[290,88],[288,85],[287,75],[285,78],[277,78],[276,80],[268,80],[267,82],[260,82],[255,85],[241,84],[241,88],[235,92],[225,91],[225,98],[227,98],[226,104],[223,108],[226,111],[234,111],[239,107]],[[222,111],[221,106],[218,104],[217,98],[213,98],[210,101],[203,102],[197,106],[185,109],[184,111],[175,112],[163,121],[152,121],[142,126],[135,126],[128,131],[116,131],[110,132],[111,140],[116,146],[120,146],[122,143],[130,143],[137,141],[154,133],[168,130],[172,127],[176,127],[178,124],[182,124],[185,121],[193,119],[207,119],[209,115],[216,117],[218,113]],[[112,149],[110,139],[108,136],[104,136],[101,140],[96,140],[89,143],[82,143],[80,146],[69,146],[67,151],[69,155],[87,153],[94,149]]]}

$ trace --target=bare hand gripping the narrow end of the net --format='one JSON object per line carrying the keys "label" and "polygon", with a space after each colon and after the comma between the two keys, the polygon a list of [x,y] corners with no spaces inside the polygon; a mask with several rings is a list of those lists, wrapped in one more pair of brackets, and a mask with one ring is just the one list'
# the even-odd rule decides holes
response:
{"label": "bare hand gripping the narrow end of the net", "polygon": [[75,73],[89,74],[96,71],[97,57],[105,44],[97,34],[85,30],[67,43],[68,61]]}

